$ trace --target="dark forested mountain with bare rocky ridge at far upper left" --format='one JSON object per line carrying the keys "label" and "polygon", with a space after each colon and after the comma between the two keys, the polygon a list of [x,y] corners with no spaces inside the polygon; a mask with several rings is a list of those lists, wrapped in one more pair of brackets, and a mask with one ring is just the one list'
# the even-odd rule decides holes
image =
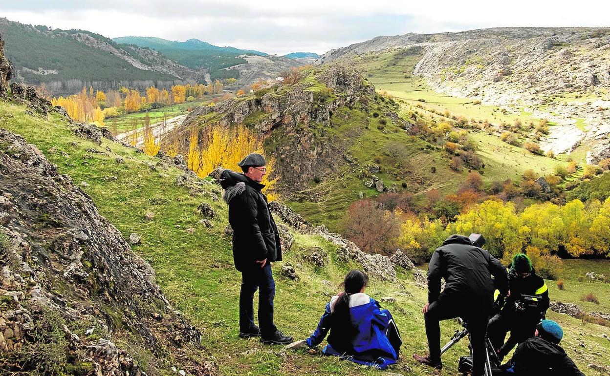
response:
{"label": "dark forested mountain with bare rocky ridge at far upper left", "polygon": [[204,70],[179,65],[160,52],[120,46],[85,30],[50,29],[0,18],[0,34],[15,80],[33,85],[45,83],[53,94],[73,94],[83,85],[171,85],[174,80],[199,80],[206,74]]}

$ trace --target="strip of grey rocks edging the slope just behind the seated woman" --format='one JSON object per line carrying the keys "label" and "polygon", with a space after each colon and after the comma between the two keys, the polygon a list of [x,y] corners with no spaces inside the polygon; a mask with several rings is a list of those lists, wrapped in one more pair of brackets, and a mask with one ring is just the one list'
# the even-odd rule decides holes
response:
{"label": "strip of grey rocks edging the slope just behind the seated woman", "polygon": [[[324,225],[318,227],[312,226],[300,215],[296,214],[292,209],[286,207],[285,205],[279,204],[278,202],[271,202],[269,208],[275,216],[284,221],[285,224],[292,227],[292,229],[301,233],[320,235],[330,243],[338,246],[336,251],[338,260],[343,262],[355,261],[356,263],[361,264],[362,269],[372,277],[379,278],[381,280],[389,280],[392,282],[397,280],[393,263],[387,256],[367,254],[353,242],[344,239],[340,234],[329,232]],[[320,252],[318,252],[320,254],[316,255],[313,260],[312,258],[308,257],[308,253],[314,252],[316,251],[312,250],[311,252],[306,252],[304,258],[306,258],[307,261],[312,261],[314,263],[318,263],[320,261],[323,263],[325,257]],[[318,261],[318,258],[320,261]]]}

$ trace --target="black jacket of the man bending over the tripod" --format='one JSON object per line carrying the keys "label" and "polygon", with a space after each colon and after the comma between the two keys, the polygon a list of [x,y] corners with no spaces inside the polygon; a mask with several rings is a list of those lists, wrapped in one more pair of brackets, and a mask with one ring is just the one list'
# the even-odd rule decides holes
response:
{"label": "black jacket of the man bending over the tripod", "polygon": [[[492,280],[492,276],[495,280]],[[440,278],[445,289],[440,293]],[[462,235],[451,235],[434,251],[428,266],[428,302],[457,299],[490,307],[493,291],[508,291],[508,274],[497,258]]]}

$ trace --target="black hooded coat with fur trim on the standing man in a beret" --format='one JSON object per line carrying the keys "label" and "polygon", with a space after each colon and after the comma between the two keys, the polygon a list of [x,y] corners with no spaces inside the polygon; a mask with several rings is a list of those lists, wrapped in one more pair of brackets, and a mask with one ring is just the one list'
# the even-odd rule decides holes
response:
{"label": "black hooded coat with fur trim on the standing man in a beret", "polygon": [[256,261],[281,261],[278,227],[267,206],[265,186],[231,170],[220,176],[224,201],[229,205],[233,229],[233,261],[238,271],[256,266]]}

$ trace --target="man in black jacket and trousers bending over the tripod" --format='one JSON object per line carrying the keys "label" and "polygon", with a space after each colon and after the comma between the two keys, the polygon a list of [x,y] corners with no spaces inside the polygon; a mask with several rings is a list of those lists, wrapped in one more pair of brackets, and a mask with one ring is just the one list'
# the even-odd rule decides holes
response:
{"label": "man in black jacket and trousers bending over the tripod", "polygon": [[[441,278],[445,278],[442,293]],[[483,375],[485,336],[495,289],[499,289],[502,294],[508,291],[508,275],[497,258],[473,244],[466,236],[451,235],[445,240],[432,254],[428,266],[428,304],[422,312],[429,355],[413,354],[415,360],[437,369],[442,368],[439,322],[462,317],[472,344],[472,375]]]}

